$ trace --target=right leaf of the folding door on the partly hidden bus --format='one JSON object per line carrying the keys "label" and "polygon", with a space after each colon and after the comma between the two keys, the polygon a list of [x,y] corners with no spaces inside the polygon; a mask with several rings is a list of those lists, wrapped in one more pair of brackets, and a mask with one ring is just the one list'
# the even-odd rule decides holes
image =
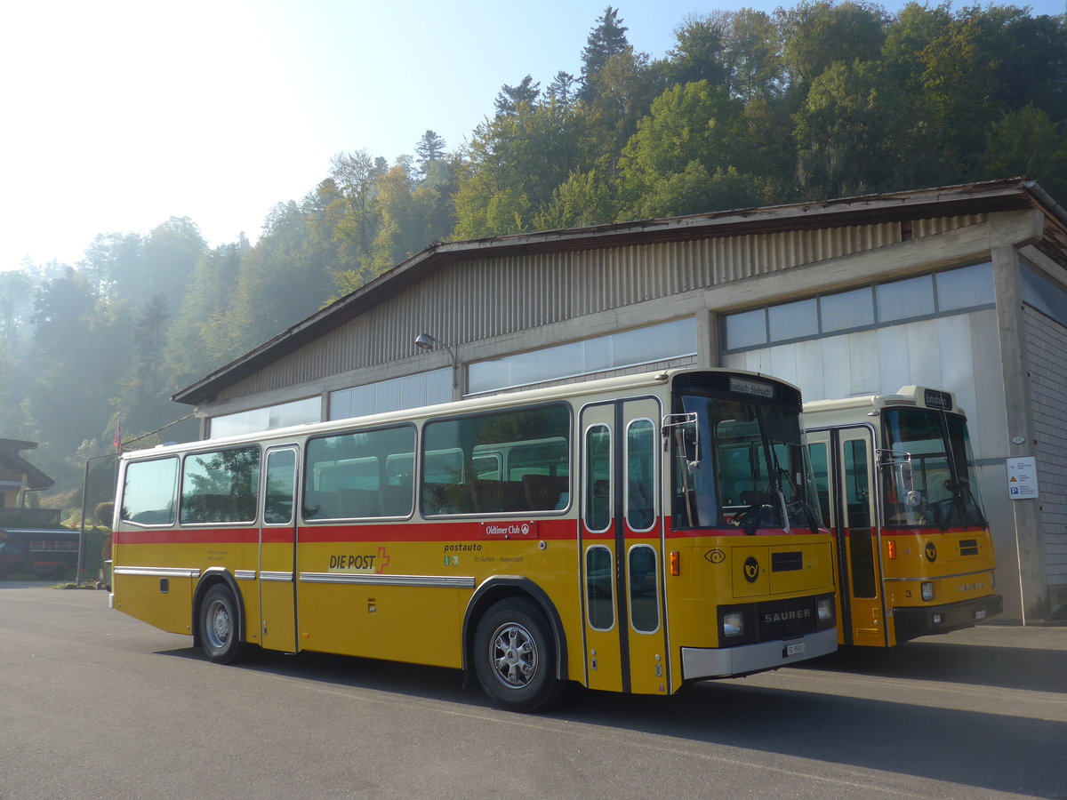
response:
{"label": "right leaf of the folding door on the partly hidden bus", "polygon": [[[839,432],[839,486],[841,526],[846,557],[842,566],[846,579],[850,614],[847,636],[853,644],[887,645],[886,607],[881,591],[881,547],[875,527],[874,448],[866,428],[845,428]],[[846,639],[846,642],[848,640]]]}

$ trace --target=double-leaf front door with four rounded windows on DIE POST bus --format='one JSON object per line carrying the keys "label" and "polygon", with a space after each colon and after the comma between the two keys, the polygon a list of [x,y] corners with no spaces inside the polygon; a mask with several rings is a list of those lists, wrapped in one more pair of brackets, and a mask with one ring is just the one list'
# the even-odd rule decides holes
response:
{"label": "double-leaf front door with four rounded windows on DIE POST bus", "polygon": [[586,684],[667,693],[654,399],[582,413],[580,540]]}

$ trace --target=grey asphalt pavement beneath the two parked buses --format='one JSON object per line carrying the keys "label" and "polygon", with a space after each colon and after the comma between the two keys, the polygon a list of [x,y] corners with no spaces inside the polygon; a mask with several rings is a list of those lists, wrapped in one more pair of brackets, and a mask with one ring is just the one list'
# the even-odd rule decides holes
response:
{"label": "grey asphalt pavement beneath the two parked buses", "polygon": [[498,710],[462,675],[208,663],[107,592],[0,581],[0,798],[1067,798],[1067,627],[987,624],[673,698]]}

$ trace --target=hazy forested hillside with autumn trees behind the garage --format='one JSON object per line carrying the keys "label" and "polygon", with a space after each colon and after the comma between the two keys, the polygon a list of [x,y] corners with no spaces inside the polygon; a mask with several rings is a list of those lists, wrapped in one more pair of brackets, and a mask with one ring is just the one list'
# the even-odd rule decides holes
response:
{"label": "hazy forested hillside with autumn trees behind the garage", "polygon": [[41,443],[43,502],[80,502],[120,420],[129,441],[181,417],[175,390],[434,241],[1018,175],[1067,199],[1065,16],[803,2],[691,16],[662,58],[624,21],[592,21],[576,74],[507,77],[452,149],[337,154],[254,243],[171,218],[0,272],[0,436]]}

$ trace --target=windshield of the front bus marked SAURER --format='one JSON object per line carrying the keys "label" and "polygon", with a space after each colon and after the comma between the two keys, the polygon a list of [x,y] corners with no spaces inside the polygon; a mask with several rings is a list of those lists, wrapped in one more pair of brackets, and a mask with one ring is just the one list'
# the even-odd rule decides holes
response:
{"label": "windshield of the front bus marked SAURER", "polygon": [[817,531],[818,496],[796,412],[691,395],[682,405],[696,415],[697,446],[675,428],[675,528]]}

